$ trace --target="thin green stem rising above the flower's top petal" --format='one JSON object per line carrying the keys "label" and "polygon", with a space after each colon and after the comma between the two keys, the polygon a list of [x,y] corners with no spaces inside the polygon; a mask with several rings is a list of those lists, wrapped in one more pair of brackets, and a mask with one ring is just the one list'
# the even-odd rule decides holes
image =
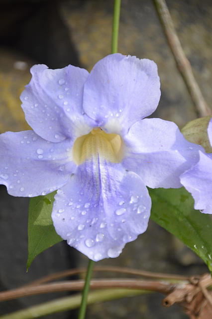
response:
{"label": "thin green stem rising above the flower's top petal", "polygon": [[120,17],[120,6],[121,0],[114,0],[111,53],[116,53],[118,51],[118,27]]}

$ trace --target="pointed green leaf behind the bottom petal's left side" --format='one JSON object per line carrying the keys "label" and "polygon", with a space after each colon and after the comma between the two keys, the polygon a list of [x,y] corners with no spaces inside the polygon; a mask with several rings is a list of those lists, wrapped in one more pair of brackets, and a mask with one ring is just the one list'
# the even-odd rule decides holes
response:
{"label": "pointed green leaf behind the bottom petal's left side", "polygon": [[27,270],[38,254],[62,241],[54,229],[51,218],[55,193],[56,191],[30,199]]}

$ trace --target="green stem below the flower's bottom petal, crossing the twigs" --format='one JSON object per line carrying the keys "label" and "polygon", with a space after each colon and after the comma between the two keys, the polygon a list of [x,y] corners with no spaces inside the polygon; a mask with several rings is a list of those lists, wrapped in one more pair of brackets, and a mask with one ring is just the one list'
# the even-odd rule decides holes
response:
{"label": "green stem below the flower's bottom petal, crossing the twigs", "polygon": [[95,262],[93,260],[91,260],[91,259],[89,260],[89,265],[88,265],[88,270],[87,270],[87,274],[86,274],[86,280],[85,280],[85,285],[84,285],[84,289],[83,289],[83,296],[82,296],[82,301],[81,301],[81,305],[80,305],[78,319],[85,318],[87,299],[88,299],[88,293],[89,293],[90,281],[92,278],[94,263]]}

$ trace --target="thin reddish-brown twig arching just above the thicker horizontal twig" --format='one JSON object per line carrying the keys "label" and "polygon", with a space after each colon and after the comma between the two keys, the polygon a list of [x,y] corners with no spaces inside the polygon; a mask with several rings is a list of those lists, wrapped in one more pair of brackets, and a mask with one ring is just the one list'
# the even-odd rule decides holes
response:
{"label": "thin reddish-brown twig arching just above the thicker horizontal twig", "polygon": [[[82,273],[86,273],[86,268],[76,268],[76,269],[68,269],[59,273],[54,273],[42,278],[39,278],[33,282],[30,282],[24,287],[33,286],[33,285],[41,285],[50,281],[54,281],[60,278],[75,276]],[[153,273],[149,271],[143,271],[138,269],[131,269],[125,267],[112,267],[112,266],[99,266],[94,268],[94,272],[111,272],[111,273],[119,273],[119,274],[127,274],[127,275],[135,275],[141,276],[146,278],[157,278],[162,280],[187,280],[189,281],[190,278],[181,275],[172,275],[172,274],[162,274],[162,273]]]}

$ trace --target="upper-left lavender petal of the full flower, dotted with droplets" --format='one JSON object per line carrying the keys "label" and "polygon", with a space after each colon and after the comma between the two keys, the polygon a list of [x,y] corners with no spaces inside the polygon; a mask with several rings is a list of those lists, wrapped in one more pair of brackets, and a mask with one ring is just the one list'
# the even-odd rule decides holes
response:
{"label": "upper-left lavender petal of the full flower, dotted with droplets", "polygon": [[51,142],[75,138],[75,130],[87,134],[85,126],[91,119],[82,115],[82,99],[88,71],[72,65],[51,70],[42,64],[34,65],[31,74],[20,99],[35,133]]}

